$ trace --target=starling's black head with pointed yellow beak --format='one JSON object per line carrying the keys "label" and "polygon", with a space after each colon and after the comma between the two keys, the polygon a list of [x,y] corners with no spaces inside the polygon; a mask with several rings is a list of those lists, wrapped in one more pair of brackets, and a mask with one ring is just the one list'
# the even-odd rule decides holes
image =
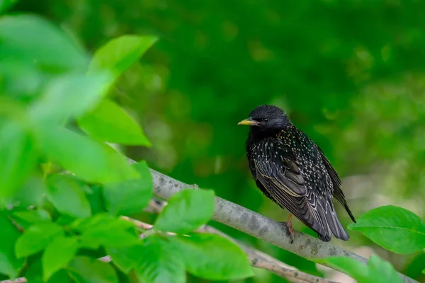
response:
{"label": "starling's black head with pointed yellow beak", "polygon": [[242,120],[238,125],[251,126],[253,134],[271,135],[290,127],[292,123],[288,115],[273,105],[261,105],[249,113],[249,118]]}

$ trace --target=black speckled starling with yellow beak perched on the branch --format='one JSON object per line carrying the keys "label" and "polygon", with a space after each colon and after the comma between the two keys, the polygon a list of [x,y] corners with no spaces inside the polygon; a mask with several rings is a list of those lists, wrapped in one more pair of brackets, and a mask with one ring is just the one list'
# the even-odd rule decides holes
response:
{"label": "black speckled starling with yellow beak perched on the branch", "polygon": [[246,140],[249,169],[264,195],[290,213],[285,224],[292,241],[292,215],[324,242],[329,242],[332,234],[347,241],[349,236],[336,216],[332,196],[354,222],[356,219],[347,205],[338,174],[319,146],[273,105],[255,108],[238,125],[251,126]]}

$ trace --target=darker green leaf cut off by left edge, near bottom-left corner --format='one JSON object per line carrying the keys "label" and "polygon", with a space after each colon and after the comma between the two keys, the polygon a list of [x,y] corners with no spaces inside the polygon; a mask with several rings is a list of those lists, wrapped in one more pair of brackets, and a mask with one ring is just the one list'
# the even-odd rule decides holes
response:
{"label": "darker green leaf cut off by left edge, near bottom-left corner", "polygon": [[21,233],[8,219],[8,214],[0,211],[0,274],[14,278],[23,267],[23,258],[15,255],[15,243]]}

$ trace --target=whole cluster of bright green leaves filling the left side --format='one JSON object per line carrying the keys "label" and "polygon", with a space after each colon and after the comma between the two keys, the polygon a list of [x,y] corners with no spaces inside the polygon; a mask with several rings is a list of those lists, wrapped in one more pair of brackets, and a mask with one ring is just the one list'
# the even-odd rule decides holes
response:
{"label": "whole cluster of bright green leaves filling the left side", "polygon": [[[136,272],[143,282],[185,282],[186,268],[207,279],[253,275],[234,243],[183,236],[211,218],[211,190],[175,195],[143,241],[119,217],[147,206],[152,177],[145,161],[130,166],[104,142],[150,143],[107,92],[156,37],[118,37],[89,63],[62,30],[38,16],[4,16],[0,29],[2,58],[21,68],[1,85],[1,275],[79,283],[118,283],[119,272]],[[8,87],[19,84],[22,70],[33,82],[26,93]],[[96,260],[106,251],[113,265]],[[222,257],[232,260],[223,265]]]}

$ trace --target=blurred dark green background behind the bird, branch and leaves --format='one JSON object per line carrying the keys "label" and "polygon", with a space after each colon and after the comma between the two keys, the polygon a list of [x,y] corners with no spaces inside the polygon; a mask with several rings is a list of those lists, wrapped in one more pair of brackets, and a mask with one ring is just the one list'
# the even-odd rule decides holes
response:
{"label": "blurred dark green background behind the bird, branch and leaves", "polygon": [[[257,105],[275,104],[322,147],[356,216],[394,204],[425,218],[425,1],[26,0],[13,11],[45,16],[92,51],[123,34],[159,35],[114,91],[154,144],[125,149],[130,157],[284,221],[287,212],[251,180],[248,129],[237,126]],[[212,224],[289,265],[350,282]],[[395,255],[350,234],[332,243],[425,282],[425,253]],[[244,282],[283,280],[256,273]]]}

